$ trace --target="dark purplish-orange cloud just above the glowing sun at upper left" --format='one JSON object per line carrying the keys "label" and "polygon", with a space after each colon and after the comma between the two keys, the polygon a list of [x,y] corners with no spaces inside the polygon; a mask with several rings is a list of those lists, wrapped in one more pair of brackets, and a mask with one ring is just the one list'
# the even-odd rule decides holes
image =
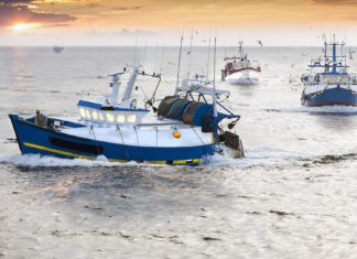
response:
{"label": "dark purplish-orange cloud just above the glowing sun at upper left", "polygon": [[77,18],[52,12],[39,12],[30,9],[33,0],[0,0],[0,28],[9,26],[14,23],[42,23],[44,25],[64,24],[74,22]]}

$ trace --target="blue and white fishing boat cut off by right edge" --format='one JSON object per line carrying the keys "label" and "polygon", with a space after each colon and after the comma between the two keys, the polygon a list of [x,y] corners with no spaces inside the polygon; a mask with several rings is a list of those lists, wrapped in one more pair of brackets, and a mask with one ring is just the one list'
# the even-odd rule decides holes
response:
{"label": "blue and white fishing boat cut off by right edge", "polygon": [[301,77],[305,88],[301,102],[307,107],[357,106],[357,75],[348,73],[345,43],[325,39],[324,56],[312,60],[310,73]]}

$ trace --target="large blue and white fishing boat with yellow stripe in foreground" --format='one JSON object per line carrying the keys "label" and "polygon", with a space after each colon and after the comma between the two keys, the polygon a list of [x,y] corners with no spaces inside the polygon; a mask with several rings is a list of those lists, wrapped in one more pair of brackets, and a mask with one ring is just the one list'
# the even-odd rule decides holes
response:
{"label": "large blue and white fishing boat with yellow stripe in foreground", "polygon": [[[235,150],[236,157],[244,155],[239,137],[229,130],[240,116],[217,100],[227,93],[216,90],[215,80],[183,79],[178,83],[177,79],[174,94],[160,100],[156,108],[155,94],[161,75],[145,74],[140,65],[128,67],[109,75],[110,95],[98,100],[79,99],[78,121],[47,118],[40,111],[31,118],[9,115],[21,152],[89,160],[100,157],[113,162],[195,165],[221,152],[221,144],[226,144]],[[130,77],[120,95],[121,78],[127,73]],[[138,108],[132,97],[138,76],[158,79],[155,91],[145,100],[153,115],[145,106]],[[224,119],[230,121],[228,130],[219,125]]]}

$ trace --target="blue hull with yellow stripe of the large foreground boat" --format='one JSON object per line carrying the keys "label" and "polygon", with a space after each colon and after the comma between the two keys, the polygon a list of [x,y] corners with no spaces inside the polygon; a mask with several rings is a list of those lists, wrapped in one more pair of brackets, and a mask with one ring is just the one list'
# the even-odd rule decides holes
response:
{"label": "blue hull with yellow stripe of the large foreground boat", "polygon": [[[151,162],[165,164],[197,164],[205,155],[217,151],[215,144],[188,148],[133,147],[102,141],[95,141],[42,128],[33,119],[24,120],[18,115],[9,115],[23,154],[41,154],[57,158],[96,159],[105,155],[109,161]],[[68,121],[61,121],[72,127],[83,127]]]}

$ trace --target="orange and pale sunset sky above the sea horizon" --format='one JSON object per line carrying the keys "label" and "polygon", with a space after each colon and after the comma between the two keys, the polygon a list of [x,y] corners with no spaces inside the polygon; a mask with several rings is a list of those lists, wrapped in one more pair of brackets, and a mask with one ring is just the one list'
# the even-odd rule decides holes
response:
{"label": "orange and pale sunset sky above the sea horizon", "polygon": [[357,0],[0,0],[0,45],[357,45]]}

